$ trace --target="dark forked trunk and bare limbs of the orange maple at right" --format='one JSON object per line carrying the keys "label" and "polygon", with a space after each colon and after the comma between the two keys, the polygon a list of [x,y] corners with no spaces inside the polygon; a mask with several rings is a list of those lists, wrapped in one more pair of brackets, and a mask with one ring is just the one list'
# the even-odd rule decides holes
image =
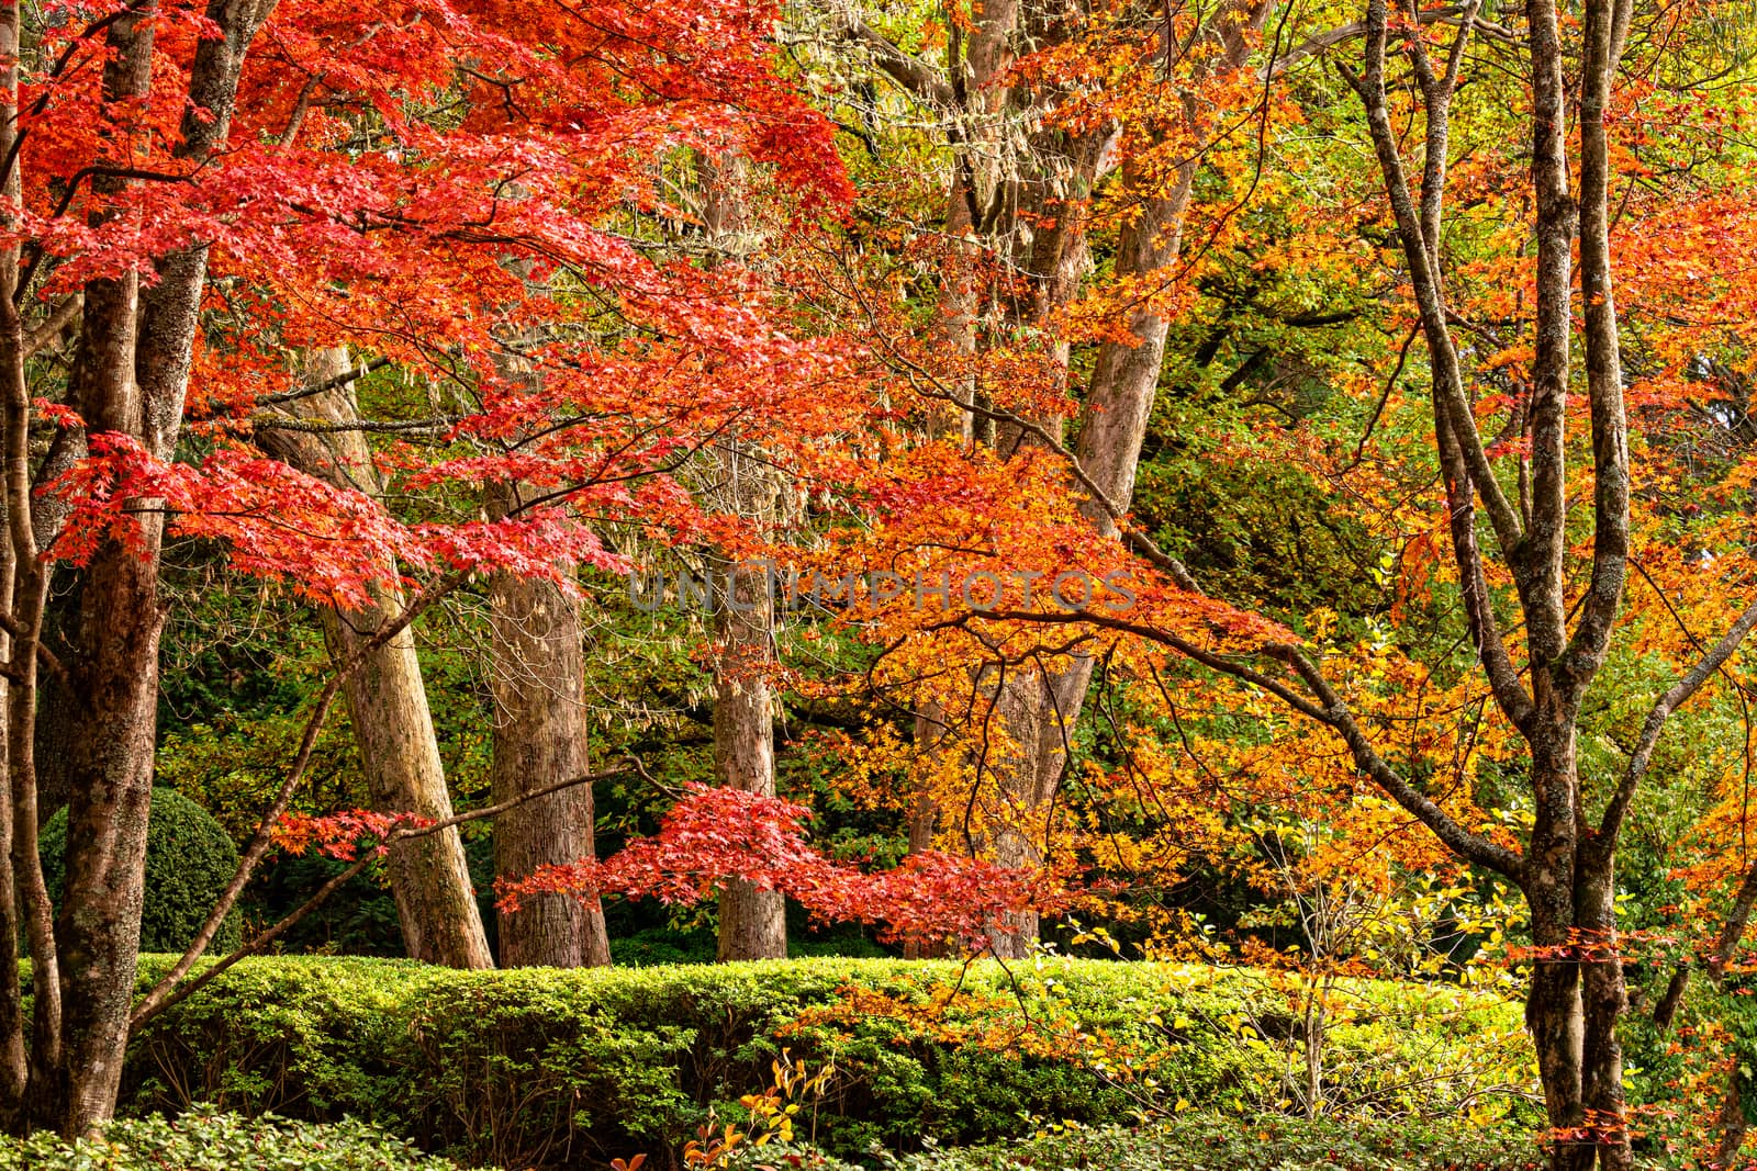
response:
{"label": "dark forked trunk and bare limbs of the orange maple at right", "polygon": [[[1182,620],[1168,618],[1181,606],[1172,595],[1163,597],[1165,609],[1153,621],[1095,613],[986,616],[1130,630],[1274,695],[1330,729],[1355,767],[1457,857],[1516,885],[1530,906],[1536,967],[1527,1022],[1558,1167],[1630,1166],[1618,1043],[1627,992],[1615,908],[1616,843],[1667,716],[1757,625],[1757,609],[1738,613],[1680,669],[1653,702],[1620,774],[1581,774],[1581,702],[1616,634],[1630,557],[1630,421],[1609,193],[1615,79],[1630,19],[1627,4],[1587,4],[1578,35],[1569,30],[1564,37],[1558,11],[1534,4],[1520,33],[1499,26],[1488,33],[1518,46],[1530,102],[1523,119],[1530,146],[1525,195],[1534,209],[1527,223],[1536,258],[1523,277],[1530,300],[1520,325],[1529,330],[1530,356],[1513,444],[1483,434],[1485,409],[1472,400],[1472,351],[1458,337],[1462,325],[1446,281],[1451,112],[1472,61],[1469,46],[1479,35],[1478,11],[1467,7],[1441,21],[1450,33],[1435,40],[1425,12],[1409,7],[1393,14],[1386,4],[1370,4],[1362,25],[1344,33],[1360,37],[1360,67],[1337,65],[1365,114],[1427,344],[1428,439],[1444,483],[1446,537],[1479,678],[1523,746],[1532,820],[1520,841],[1448,808],[1444,792],[1395,765],[1390,744],[1362,716],[1360,695],[1337,683],[1309,643],[1251,636],[1242,616],[1209,614],[1205,621],[1216,623],[1209,636],[1189,625],[1177,630],[1189,618],[1188,611]],[[1402,81],[1388,74],[1393,53],[1407,67]],[[1578,77],[1573,86],[1569,74]],[[1413,146],[1399,121],[1407,112],[1418,118]],[[1578,146],[1571,146],[1571,125],[1578,126]],[[1576,170],[1578,190],[1571,181]],[[1578,390],[1585,392],[1585,411],[1569,409]],[[1585,430],[1583,439],[1576,428]],[[1182,597],[1198,597],[1195,581],[1174,565],[1167,569]],[[1225,637],[1216,637],[1219,632]]]}

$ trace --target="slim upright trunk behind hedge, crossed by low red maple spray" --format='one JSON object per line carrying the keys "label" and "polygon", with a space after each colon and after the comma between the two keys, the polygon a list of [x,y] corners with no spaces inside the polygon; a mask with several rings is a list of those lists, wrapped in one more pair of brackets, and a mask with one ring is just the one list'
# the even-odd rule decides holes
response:
{"label": "slim upright trunk behind hedge, crossed by low red maple spray", "polygon": [[[761,569],[733,569],[715,614],[713,769],[720,785],[775,795],[771,606]],[[787,959],[787,901],[731,881],[720,892],[720,960]]]}

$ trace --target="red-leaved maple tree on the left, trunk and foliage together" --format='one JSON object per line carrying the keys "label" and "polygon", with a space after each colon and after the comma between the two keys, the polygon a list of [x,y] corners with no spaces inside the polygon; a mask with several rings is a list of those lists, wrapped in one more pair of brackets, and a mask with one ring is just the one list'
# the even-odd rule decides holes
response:
{"label": "red-leaved maple tree on the left, trunk and foliage together", "polygon": [[[587,16],[141,0],[40,25],[25,5],[0,12],[7,1125],[79,1132],[109,1117],[130,1020],[190,974],[372,655],[474,574],[576,590],[569,567],[624,569],[594,535],[606,520],[696,539],[705,514],[668,476],[680,458],[734,421],[777,449],[812,444],[850,407],[833,348],[778,328],[736,277],[655,263],[610,226],[652,207],[647,162],[691,144],[775,167],[801,223],[842,198],[822,123],[773,74],[771,16],[738,2]],[[32,356],[70,316],[61,377]],[[543,341],[517,346],[538,323]],[[286,358],[329,348],[406,374],[411,393],[376,416],[302,430],[369,437],[360,458],[397,511],[249,442],[288,425],[278,407],[336,390]],[[539,390],[504,377],[508,349],[543,369]],[[805,386],[813,411],[789,413]],[[532,437],[503,442],[518,434]],[[490,520],[485,483],[531,493]],[[167,539],[365,625],[337,648],[221,904],[135,1002]],[[54,558],[79,572],[65,655],[42,641]],[[35,850],[44,672],[79,697],[58,915]]]}

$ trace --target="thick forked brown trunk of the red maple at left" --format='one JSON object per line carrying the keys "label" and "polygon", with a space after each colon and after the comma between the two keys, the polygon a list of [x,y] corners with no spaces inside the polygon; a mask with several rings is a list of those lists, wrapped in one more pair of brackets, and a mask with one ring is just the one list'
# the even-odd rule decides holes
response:
{"label": "thick forked brown trunk of the red maple at left", "polygon": [[[195,49],[177,158],[200,162],[223,146],[244,53],[272,4],[216,0],[209,5],[207,18],[218,35],[204,37]],[[156,16],[156,4],[148,0],[109,26],[109,60],[102,75],[105,109],[128,111],[148,95]],[[139,128],[123,121],[104,133],[109,156],[128,158]],[[16,165],[18,160],[9,156],[9,162]],[[12,181],[14,176],[7,176],[7,183]],[[100,174],[91,179],[91,190],[107,200],[128,183]],[[95,223],[102,223],[107,212],[93,214]],[[155,262],[158,283],[149,295],[134,274],[95,279],[84,288],[72,397],[90,434],[121,434],[139,441],[155,458],[170,458],[183,421],[206,263],[207,249],[197,242]],[[142,507],[128,509],[121,521],[132,530],[127,539],[112,535],[88,562],[77,644],[67,664],[77,679],[74,695],[79,700],[69,760],[67,880],[54,939],[42,939],[40,948],[33,948],[44,953],[42,967],[58,976],[58,988],[44,987],[44,973],[35,976],[37,999],[56,1001],[60,1020],[39,1008],[30,1096],[51,1103],[39,1118],[53,1118],[69,1134],[114,1111],[128,1038],[162,630],[158,551],[163,518],[153,504],[142,500]],[[9,511],[14,532],[30,527],[21,514],[25,509]],[[37,583],[19,585],[35,592],[33,600],[23,602],[33,611],[32,625],[21,627],[33,641],[40,634],[40,574]],[[19,604],[16,590],[14,606]],[[19,650],[33,657],[35,646],[14,653]],[[33,699],[33,686],[26,690]],[[14,827],[28,829],[35,816],[35,779],[21,772],[19,758],[30,751],[30,729],[16,699],[11,706],[16,713],[9,729]],[[12,846],[16,855],[21,846],[16,832]]]}

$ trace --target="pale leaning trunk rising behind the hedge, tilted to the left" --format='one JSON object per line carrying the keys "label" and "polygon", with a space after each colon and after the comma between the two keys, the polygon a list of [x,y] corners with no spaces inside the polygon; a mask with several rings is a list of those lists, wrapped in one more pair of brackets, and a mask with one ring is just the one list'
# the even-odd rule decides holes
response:
{"label": "pale leaning trunk rising behind the hedge, tilted to the left", "polygon": [[[378,495],[381,485],[372,453],[360,432],[346,430],[358,420],[348,363],[346,351],[323,351],[307,376],[336,384],[300,400],[304,420],[315,427],[299,430],[293,420],[264,425],[260,444],[307,476]],[[358,609],[323,609],[323,634],[336,660],[360,651],[374,630],[402,613],[404,602],[402,590],[385,586]],[[343,690],[372,808],[432,820],[452,816],[415,634],[404,629],[367,651]],[[446,967],[494,967],[455,829],[392,846],[390,890],[402,943],[413,959]]]}

